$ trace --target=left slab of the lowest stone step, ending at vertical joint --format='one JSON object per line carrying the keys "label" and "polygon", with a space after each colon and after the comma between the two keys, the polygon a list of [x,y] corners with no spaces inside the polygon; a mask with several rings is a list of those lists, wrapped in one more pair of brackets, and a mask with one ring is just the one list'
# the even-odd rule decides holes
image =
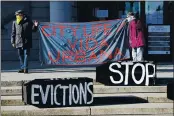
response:
{"label": "left slab of the lowest stone step, ending at vertical joint", "polygon": [[89,107],[37,108],[34,106],[2,106],[3,116],[89,115]]}

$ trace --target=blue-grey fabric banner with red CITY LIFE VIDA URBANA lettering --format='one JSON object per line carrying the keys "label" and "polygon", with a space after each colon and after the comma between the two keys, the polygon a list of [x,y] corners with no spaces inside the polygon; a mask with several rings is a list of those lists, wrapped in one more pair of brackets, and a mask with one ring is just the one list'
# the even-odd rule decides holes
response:
{"label": "blue-grey fabric banner with red CITY LIFE VIDA URBANA lettering", "polygon": [[50,65],[96,65],[129,59],[127,25],[117,30],[122,21],[41,22],[40,60]]}

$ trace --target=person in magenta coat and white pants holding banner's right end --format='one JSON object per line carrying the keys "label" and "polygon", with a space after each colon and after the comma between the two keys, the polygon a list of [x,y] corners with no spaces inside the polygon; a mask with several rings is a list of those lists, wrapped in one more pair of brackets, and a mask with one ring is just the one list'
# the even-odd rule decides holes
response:
{"label": "person in magenta coat and white pants holding banner's right end", "polygon": [[134,16],[134,13],[129,12],[117,32],[126,24],[128,24],[129,45],[132,49],[133,61],[143,61],[145,40],[141,21]]}

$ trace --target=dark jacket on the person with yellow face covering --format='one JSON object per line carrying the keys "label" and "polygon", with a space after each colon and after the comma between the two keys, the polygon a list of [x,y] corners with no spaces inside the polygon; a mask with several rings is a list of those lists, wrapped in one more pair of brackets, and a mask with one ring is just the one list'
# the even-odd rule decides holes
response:
{"label": "dark jacket on the person with yellow face covering", "polygon": [[15,44],[16,48],[32,48],[32,32],[36,32],[37,27],[25,16],[19,24],[13,21],[11,44]]}

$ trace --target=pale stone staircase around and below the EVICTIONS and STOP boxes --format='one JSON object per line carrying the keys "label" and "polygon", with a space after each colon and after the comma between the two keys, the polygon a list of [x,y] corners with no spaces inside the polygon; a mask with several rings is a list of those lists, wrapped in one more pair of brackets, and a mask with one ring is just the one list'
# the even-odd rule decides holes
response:
{"label": "pale stone staircase around and below the EVICTIONS and STOP boxes", "polygon": [[[95,73],[95,69],[92,70],[90,68],[91,73]],[[35,106],[25,105],[22,102],[22,81],[2,80],[1,114],[2,116],[173,116],[173,101],[167,98],[166,86],[173,79],[172,70],[173,65],[159,64],[157,66],[158,81],[155,86],[105,86],[95,82],[94,79],[93,105],[83,107],[37,108]]]}

